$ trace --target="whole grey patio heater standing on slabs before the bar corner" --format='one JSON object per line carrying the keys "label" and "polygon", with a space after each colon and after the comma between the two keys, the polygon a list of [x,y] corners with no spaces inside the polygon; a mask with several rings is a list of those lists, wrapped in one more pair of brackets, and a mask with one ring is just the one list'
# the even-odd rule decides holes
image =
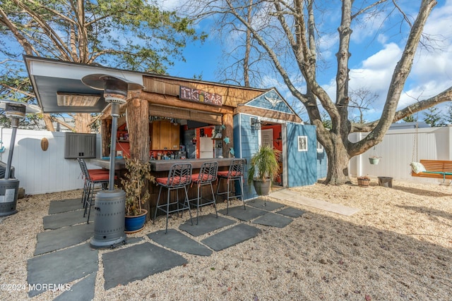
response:
{"label": "whole grey patio heater standing on slabs before the bar corner", "polygon": [[86,75],[82,78],[82,82],[88,87],[103,90],[105,102],[109,102],[112,106],[112,143],[108,190],[97,192],[95,197],[94,236],[90,240],[90,245],[96,249],[116,247],[126,243],[126,234],[124,233],[126,192],[121,189],[114,189],[114,157],[116,156],[119,104],[126,103],[128,91],[141,90],[143,86],[129,82],[125,78],[105,74]]}

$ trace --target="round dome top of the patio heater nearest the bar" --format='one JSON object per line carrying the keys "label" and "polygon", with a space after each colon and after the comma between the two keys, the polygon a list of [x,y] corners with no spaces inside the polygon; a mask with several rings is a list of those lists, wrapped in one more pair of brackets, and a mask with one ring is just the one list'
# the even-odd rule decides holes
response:
{"label": "round dome top of the patio heater nearest the bar", "polygon": [[117,104],[126,103],[128,91],[143,89],[143,85],[126,80],[126,78],[102,73],[85,75],[82,82],[95,90],[104,90],[105,101]]}

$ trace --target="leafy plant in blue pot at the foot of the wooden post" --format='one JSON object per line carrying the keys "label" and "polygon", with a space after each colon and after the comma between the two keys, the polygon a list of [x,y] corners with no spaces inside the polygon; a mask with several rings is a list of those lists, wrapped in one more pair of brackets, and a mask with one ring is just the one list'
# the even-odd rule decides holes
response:
{"label": "leafy plant in blue pot at the foot of the wooden post", "polygon": [[149,162],[125,157],[125,163],[127,172],[121,179],[121,184],[126,192],[125,231],[126,233],[133,233],[144,227],[148,211],[141,208],[141,205],[150,197],[146,183],[147,181],[155,183],[155,177],[149,173]]}

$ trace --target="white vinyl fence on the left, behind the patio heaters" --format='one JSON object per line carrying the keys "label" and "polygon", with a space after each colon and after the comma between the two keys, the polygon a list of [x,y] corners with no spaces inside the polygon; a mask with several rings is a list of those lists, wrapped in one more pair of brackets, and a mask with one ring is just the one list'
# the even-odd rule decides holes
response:
{"label": "white vinyl fence on the left, behind the patio heaters", "polygon": [[[0,128],[0,161],[8,160],[11,128]],[[47,151],[41,149],[41,139],[49,140]],[[100,157],[100,135],[96,141],[97,157]],[[0,147],[1,147],[0,145]],[[96,168],[86,159],[88,168]],[[15,178],[25,194],[37,195],[83,188],[83,178],[77,159],[64,159],[64,133],[47,130],[17,130],[12,166]],[[98,167],[97,167],[98,168]]]}

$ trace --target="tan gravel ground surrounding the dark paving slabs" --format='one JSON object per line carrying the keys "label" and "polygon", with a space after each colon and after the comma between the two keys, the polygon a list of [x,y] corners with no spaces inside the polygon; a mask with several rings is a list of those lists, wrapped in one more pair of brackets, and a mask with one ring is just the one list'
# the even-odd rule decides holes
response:
{"label": "tan gravel ground surrounding the dark paving slabs", "polygon": [[[262,231],[256,238],[210,257],[179,253],[188,264],[109,290],[102,254],[111,251],[102,250],[95,300],[452,300],[452,186],[394,180],[393,188],[384,188],[372,182],[369,188],[293,188],[360,211],[341,216],[285,202],[306,213],[285,228],[253,225]],[[25,196],[18,214],[1,219],[1,283],[26,283],[27,260],[49,202],[80,195],[76,190]],[[183,221],[172,219],[169,227]],[[164,227],[160,219],[131,236]],[[46,292],[32,300],[57,295]],[[0,300],[27,298],[26,292],[0,291]]]}

